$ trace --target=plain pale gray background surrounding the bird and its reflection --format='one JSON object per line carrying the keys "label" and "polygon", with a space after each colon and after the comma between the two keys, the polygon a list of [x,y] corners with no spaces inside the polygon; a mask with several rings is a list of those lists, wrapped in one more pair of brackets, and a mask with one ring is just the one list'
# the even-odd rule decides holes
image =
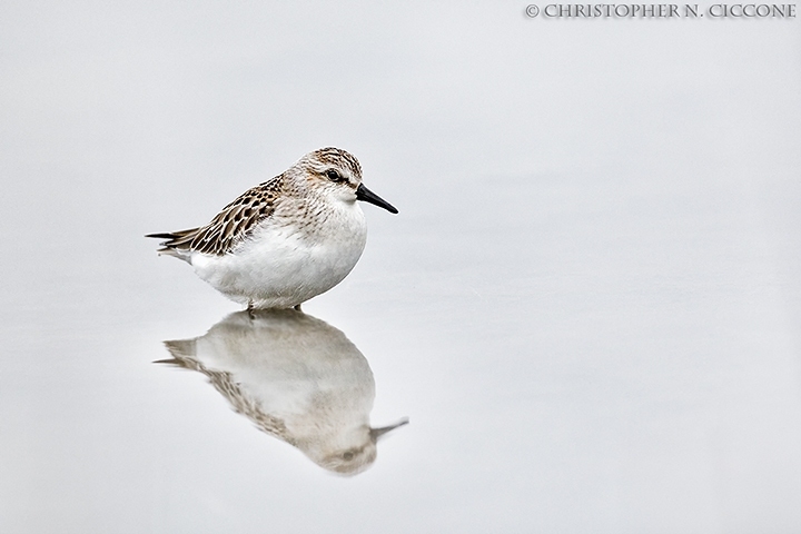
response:
{"label": "plain pale gray background surrounding the bird and its reflection", "polygon": [[[125,3],[0,3],[1,532],[801,532],[798,19]],[[355,478],[150,363],[237,307],[141,236],[328,145]]]}

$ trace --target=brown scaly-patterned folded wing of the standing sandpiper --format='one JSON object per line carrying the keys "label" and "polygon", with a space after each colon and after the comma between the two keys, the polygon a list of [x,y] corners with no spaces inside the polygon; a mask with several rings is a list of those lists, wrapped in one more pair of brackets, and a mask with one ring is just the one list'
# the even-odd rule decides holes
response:
{"label": "brown scaly-patterned folded wing of the standing sandpiper", "polygon": [[206,226],[145,237],[167,239],[159,251],[204,253],[222,256],[245,239],[256,225],[275,211],[281,189],[281,176],[248,189]]}

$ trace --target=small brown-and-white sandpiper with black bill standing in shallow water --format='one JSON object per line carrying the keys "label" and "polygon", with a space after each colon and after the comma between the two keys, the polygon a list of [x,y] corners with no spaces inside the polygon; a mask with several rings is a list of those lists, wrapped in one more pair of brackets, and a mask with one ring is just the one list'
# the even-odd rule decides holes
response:
{"label": "small brown-and-white sandpiper with black bill standing in shallow water", "polygon": [[249,308],[289,308],[339,284],[358,261],[367,226],[356,200],[397,209],[362,184],[338,148],[304,156],[245,191],[200,228],[150,234],[226,297]]}

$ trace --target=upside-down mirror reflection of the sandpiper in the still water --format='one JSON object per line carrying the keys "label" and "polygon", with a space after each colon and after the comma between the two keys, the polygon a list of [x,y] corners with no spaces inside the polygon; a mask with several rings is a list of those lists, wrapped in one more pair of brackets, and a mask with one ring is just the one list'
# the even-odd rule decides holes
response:
{"label": "upside-down mirror reflection of the sandpiper in the still water", "polygon": [[206,375],[234,409],[326,469],[356,474],[376,442],[405,424],[372,428],[375,383],[338,329],[294,309],[231,314],[195,339],[165,342],[174,364]]}

